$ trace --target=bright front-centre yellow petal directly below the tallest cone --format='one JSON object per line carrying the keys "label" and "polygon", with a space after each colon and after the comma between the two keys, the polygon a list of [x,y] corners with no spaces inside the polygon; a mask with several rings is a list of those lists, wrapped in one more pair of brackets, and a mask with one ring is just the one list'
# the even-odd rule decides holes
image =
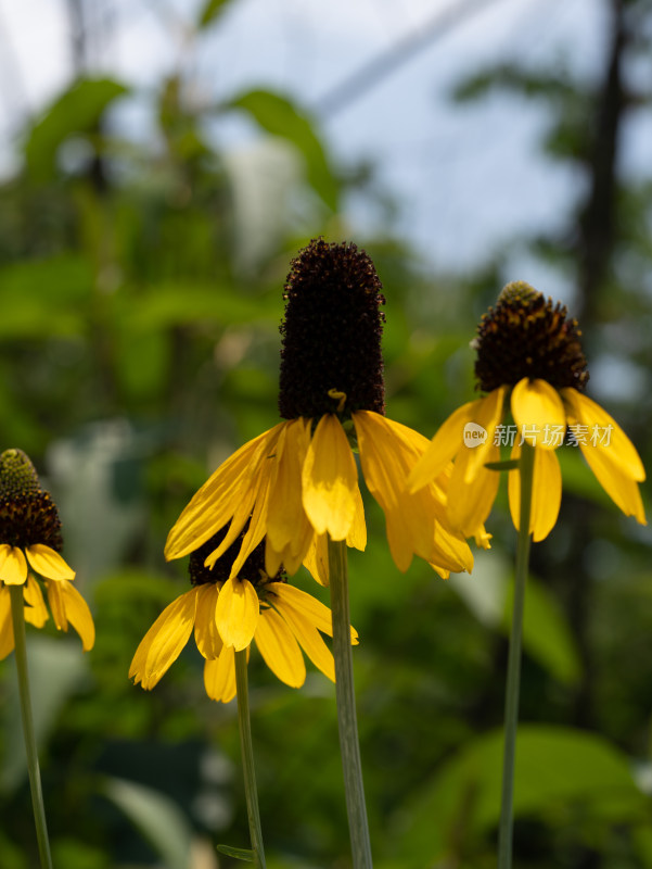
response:
{"label": "bright front-centre yellow petal directly below the tallest cone", "polygon": [[358,469],[334,414],[324,414],[306,453],[302,476],[304,509],[318,534],[345,540],[357,508]]}

